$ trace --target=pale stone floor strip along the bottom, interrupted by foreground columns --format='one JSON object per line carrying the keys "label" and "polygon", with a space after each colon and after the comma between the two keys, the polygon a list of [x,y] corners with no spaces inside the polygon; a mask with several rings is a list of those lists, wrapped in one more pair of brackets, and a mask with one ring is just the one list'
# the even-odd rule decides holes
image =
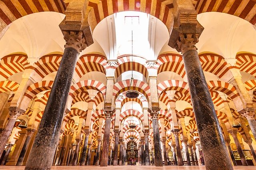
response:
{"label": "pale stone floor strip along the bottom, interrupted by foreground columns", "polygon": [[[0,170],[24,170],[25,166],[0,166]],[[52,170],[205,170],[204,166],[52,166]],[[255,170],[255,166],[234,166],[234,170]]]}

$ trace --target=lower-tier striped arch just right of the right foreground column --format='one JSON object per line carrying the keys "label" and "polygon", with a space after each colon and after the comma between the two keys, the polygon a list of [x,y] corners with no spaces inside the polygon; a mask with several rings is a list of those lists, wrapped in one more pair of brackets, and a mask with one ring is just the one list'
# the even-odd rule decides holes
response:
{"label": "lower-tier striped arch just right of the right foreground column", "polygon": [[224,81],[208,81],[209,91],[221,91],[228,95],[231,99],[238,97],[238,92],[236,91],[236,87],[226,83]]}

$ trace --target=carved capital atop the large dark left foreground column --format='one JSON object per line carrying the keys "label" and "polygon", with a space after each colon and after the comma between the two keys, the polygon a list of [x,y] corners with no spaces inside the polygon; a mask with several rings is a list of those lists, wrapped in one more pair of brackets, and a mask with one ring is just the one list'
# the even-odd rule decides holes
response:
{"label": "carved capital atop the large dark left foreground column", "polygon": [[72,47],[80,53],[87,47],[86,39],[82,31],[63,31],[63,35],[66,41],[65,48]]}

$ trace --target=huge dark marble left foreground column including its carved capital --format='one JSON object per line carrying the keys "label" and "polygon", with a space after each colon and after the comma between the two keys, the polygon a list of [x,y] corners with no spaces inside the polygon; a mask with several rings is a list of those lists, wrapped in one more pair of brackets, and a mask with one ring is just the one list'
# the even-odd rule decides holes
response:
{"label": "huge dark marble left foreground column including its carved capital", "polygon": [[87,46],[82,31],[63,31],[63,34],[67,43],[25,170],[51,168],[78,54]]}

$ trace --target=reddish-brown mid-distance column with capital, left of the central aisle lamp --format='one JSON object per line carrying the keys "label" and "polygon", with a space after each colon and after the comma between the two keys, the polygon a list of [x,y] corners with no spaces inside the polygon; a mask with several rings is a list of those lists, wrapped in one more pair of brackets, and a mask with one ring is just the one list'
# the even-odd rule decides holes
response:
{"label": "reddish-brown mid-distance column with capital, left of the central aisle lamp", "polygon": [[100,166],[108,166],[108,150],[109,150],[109,138],[110,138],[110,125],[111,125],[111,111],[105,111],[105,131],[101,151]]}

